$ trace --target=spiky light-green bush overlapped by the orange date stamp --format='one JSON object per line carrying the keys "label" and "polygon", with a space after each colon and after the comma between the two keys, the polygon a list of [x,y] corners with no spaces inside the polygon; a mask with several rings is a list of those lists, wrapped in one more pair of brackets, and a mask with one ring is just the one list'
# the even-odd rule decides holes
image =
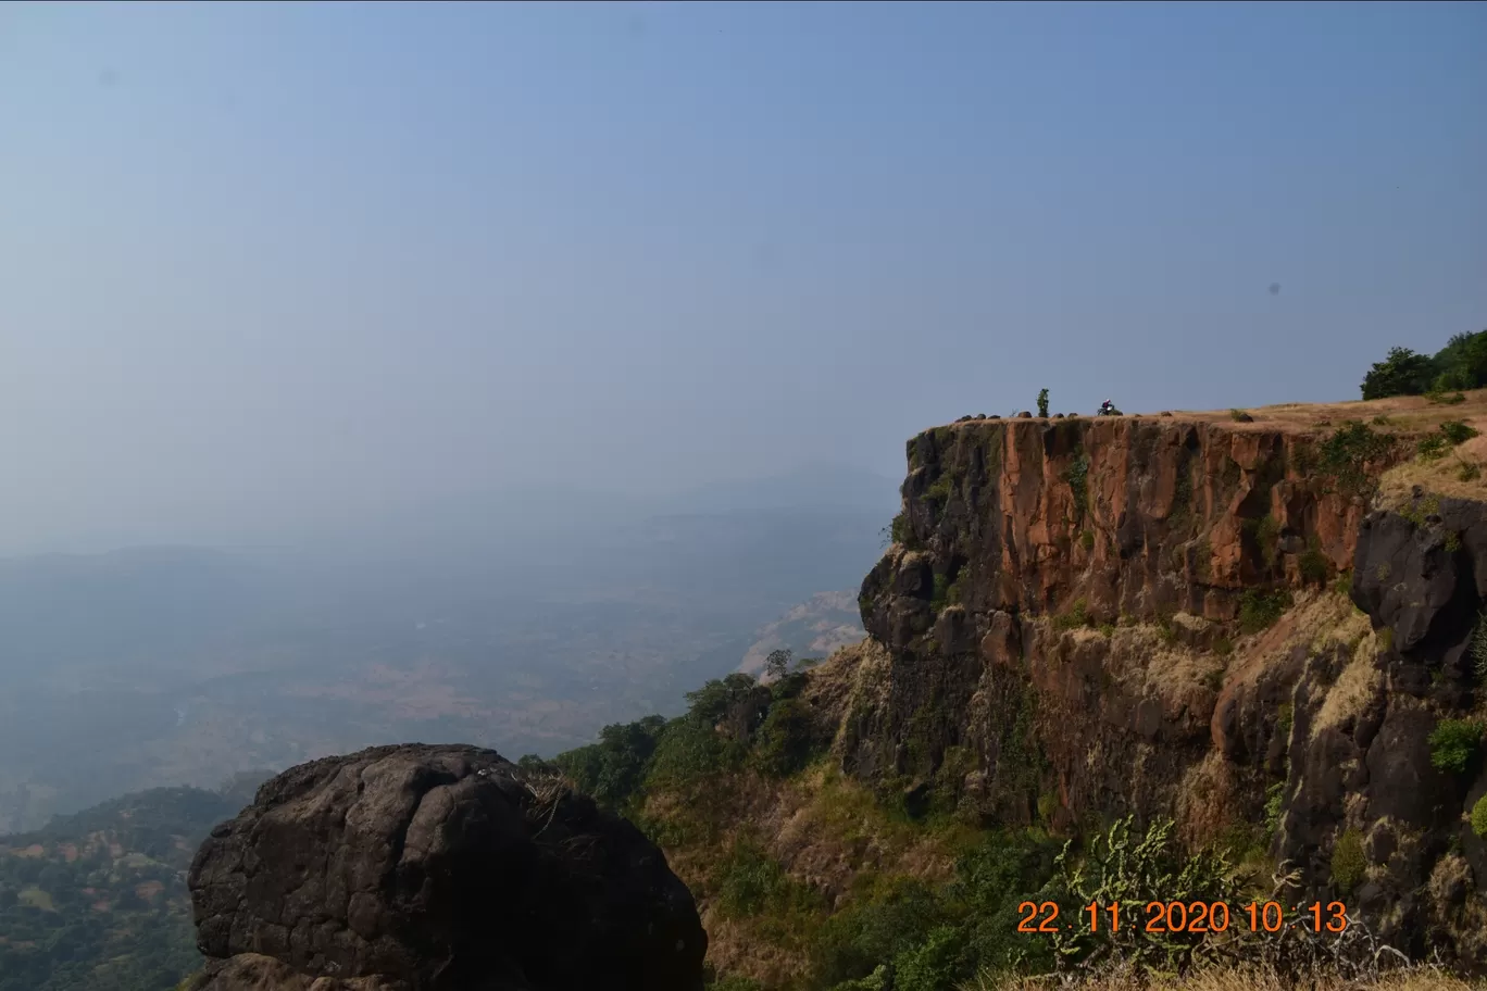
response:
{"label": "spiky light-green bush overlapped by the orange date stamp", "polygon": [[[1083,857],[1075,856],[1071,839],[1057,857],[1062,871],[1060,917],[1071,920],[1090,902],[1100,905],[1145,905],[1148,902],[1233,902],[1240,893],[1228,859],[1204,848],[1193,856],[1182,853],[1170,820],[1152,823],[1145,836],[1132,835],[1135,817],[1127,817],[1096,834]],[[1145,926],[1108,926],[1090,932],[1086,924],[1059,930],[1051,936],[1059,961],[1077,964],[1096,951],[1114,951],[1142,969],[1176,970],[1193,960],[1203,942],[1200,933],[1157,933]]]}

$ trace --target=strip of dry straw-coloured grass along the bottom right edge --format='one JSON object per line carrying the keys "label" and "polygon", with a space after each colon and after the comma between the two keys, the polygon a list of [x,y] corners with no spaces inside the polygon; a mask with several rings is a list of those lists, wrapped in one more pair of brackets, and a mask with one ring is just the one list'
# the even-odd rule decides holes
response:
{"label": "strip of dry straw-coloured grass along the bottom right edge", "polygon": [[1373,981],[1347,981],[1326,970],[1304,978],[1280,976],[1262,969],[1219,967],[1181,978],[1106,970],[1071,982],[1056,978],[1007,978],[984,975],[964,991],[1487,991],[1487,984],[1463,981],[1438,970],[1419,967],[1386,973]]}

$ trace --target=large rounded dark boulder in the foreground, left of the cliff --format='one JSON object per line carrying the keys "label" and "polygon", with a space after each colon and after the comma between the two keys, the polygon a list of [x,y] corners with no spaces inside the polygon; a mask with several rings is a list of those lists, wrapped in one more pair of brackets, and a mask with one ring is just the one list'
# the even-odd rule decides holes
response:
{"label": "large rounded dark boulder in the foreground, left of the cliff", "polygon": [[702,987],[706,935],[662,853],[479,747],[291,768],[213,831],[189,883],[202,991]]}

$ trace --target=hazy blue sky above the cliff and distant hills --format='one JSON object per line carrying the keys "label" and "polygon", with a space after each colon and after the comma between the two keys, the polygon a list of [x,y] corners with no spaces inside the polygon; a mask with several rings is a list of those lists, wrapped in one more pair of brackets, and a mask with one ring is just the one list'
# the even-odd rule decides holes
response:
{"label": "hazy blue sky above the cliff and distant hills", "polygon": [[1487,328],[1484,51],[1481,3],[0,4],[0,551],[1356,398]]}

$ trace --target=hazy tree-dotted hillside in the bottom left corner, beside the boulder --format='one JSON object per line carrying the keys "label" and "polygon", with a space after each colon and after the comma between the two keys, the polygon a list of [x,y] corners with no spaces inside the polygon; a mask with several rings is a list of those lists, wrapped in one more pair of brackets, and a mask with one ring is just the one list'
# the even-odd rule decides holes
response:
{"label": "hazy tree-dotted hillside in the bottom left corner, beside the boulder", "polygon": [[186,869],[265,777],[125,795],[0,836],[0,991],[168,991],[199,969]]}

